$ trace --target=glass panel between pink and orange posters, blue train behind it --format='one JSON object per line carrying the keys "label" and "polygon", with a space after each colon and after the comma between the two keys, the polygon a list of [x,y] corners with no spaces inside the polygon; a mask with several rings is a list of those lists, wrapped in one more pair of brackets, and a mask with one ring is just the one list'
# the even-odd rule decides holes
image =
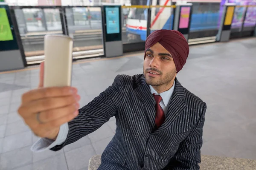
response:
{"label": "glass panel between pink and orange posters, blue train behind it", "polygon": [[215,37],[219,15],[220,3],[193,3],[189,39]]}

